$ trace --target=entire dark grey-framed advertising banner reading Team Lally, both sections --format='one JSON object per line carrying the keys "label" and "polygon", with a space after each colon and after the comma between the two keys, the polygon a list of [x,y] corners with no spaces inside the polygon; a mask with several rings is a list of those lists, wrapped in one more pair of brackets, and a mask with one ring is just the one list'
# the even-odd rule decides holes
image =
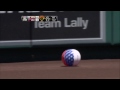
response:
{"label": "entire dark grey-framed advertising banner reading Team Lally, both sections", "polygon": [[[57,21],[26,21],[22,16]],[[106,42],[105,11],[0,11],[0,47]]]}

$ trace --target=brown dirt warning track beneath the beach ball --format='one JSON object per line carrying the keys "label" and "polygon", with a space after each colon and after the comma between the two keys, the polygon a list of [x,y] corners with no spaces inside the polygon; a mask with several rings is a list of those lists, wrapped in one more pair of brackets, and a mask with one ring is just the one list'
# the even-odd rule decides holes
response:
{"label": "brown dirt warning track beneath the beach ball", "polygon": [[120,59],[81,60],[77,67],[61,60],[0,63],[0,79],[120,79]]}

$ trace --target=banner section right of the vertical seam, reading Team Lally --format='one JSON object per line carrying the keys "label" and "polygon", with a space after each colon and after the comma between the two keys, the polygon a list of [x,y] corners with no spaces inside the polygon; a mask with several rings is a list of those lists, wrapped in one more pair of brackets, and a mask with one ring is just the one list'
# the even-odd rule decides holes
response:
{"label": "banner section right of the vertical seam, reading Team Lally", "polygon": [[46,11],[32,16],[55,16],[54,22],[32,22],[32,44],[105,42],[104,11]]}

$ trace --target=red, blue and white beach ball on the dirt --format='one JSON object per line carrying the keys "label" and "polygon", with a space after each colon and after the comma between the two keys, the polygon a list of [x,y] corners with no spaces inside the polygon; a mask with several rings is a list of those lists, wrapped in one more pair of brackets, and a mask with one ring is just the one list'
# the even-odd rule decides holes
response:
{"label": "red, blue and white beach ball on the dirt", "polygon": [[62,53],[62,62],[65,66],[77,66],[81,60],[81,54],[76,49],[68,49]]}

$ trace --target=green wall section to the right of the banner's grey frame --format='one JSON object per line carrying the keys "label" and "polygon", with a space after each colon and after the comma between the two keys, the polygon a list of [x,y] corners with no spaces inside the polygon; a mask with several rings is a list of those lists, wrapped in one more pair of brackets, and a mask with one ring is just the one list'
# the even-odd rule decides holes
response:
{"label": "green wall section to the right of the banner's grey frame", "polygon": [[106,43],[120,44],[120,11],[106,12]]}

